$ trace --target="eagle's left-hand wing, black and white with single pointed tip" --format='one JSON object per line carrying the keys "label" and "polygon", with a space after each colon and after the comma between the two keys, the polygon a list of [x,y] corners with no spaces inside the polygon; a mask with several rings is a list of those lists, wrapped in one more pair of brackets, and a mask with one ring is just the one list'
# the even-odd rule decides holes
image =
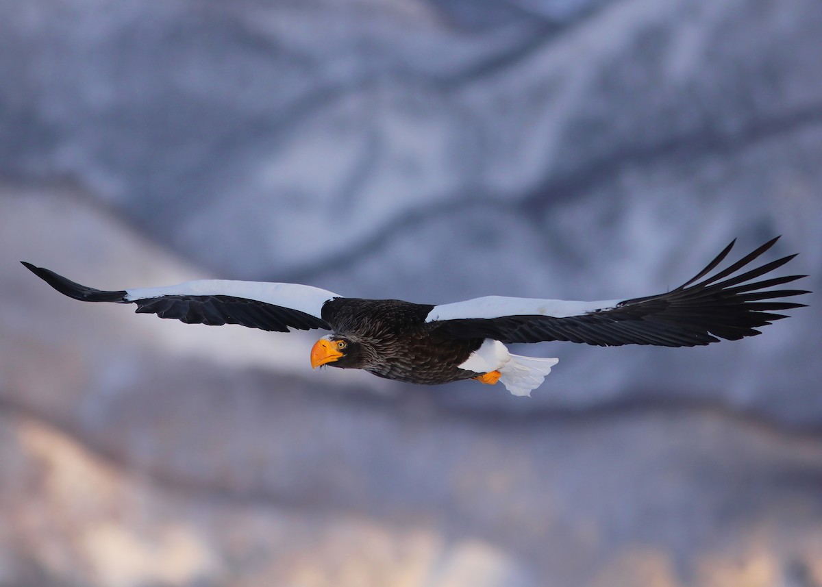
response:
{"label": "eagle's left-hand wing, black and white with single pointed tip", "polygon": [[136,303],[137,313],[157,314],[161,318],[174,318],[189,324],[240,324],[278,332],[288,332],[289,327],[330,330],[321,317],[321,309],[328,300],[340,297],[310,285],[230,280],[100,291],[25,261],[23,265],[70,298],[84,302]]}

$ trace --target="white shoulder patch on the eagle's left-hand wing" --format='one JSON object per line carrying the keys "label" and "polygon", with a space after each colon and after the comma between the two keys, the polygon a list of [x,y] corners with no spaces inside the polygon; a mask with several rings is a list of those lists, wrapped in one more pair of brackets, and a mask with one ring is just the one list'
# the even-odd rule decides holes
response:
{"label": "white shoulder patch on the eagle's left-hand wing", "polygon": [[127,289],[126,299],[163,298],[164,296],[226,295],[288,307],[320,318],[322,305],[340,298],[326,289],[311,285],[277,284],[265,281],[199,280],[161,288]]}

